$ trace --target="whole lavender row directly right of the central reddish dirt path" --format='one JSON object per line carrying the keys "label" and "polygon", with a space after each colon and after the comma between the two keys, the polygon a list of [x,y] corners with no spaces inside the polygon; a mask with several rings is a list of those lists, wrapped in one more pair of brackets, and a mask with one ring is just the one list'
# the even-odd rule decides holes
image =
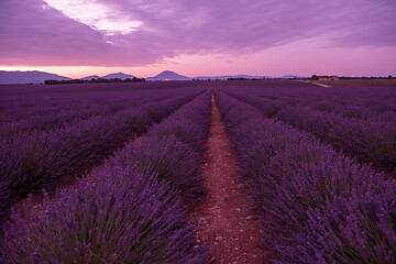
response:
{"label": "whole lavender row directly right of the central reddish dirt path", "polygon": [[273,263],[394,263],[396,183],[216,92]]}

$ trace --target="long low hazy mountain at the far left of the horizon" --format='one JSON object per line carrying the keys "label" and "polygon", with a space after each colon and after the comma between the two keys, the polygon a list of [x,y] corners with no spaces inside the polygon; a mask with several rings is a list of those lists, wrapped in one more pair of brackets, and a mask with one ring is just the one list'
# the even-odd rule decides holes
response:
{"label": "long low hazy mountain at the far left of the horizon", "polygon": [[38,70],[29,70],[29,72],[7,72],[0,70],[0,85],[11,85],[11,84],[41,84],[44,80],[70,80],[68,77],[48,74]]}

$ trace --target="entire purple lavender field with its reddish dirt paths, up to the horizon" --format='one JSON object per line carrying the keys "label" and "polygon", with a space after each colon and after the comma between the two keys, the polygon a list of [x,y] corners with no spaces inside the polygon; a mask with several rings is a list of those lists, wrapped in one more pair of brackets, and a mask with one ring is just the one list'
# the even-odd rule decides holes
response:
{"label": "entire purple lavender field with its reddish dirt paths, up to the horizon", "polygon": [[0,86],[0,263],[395,263],[396,81]]}

